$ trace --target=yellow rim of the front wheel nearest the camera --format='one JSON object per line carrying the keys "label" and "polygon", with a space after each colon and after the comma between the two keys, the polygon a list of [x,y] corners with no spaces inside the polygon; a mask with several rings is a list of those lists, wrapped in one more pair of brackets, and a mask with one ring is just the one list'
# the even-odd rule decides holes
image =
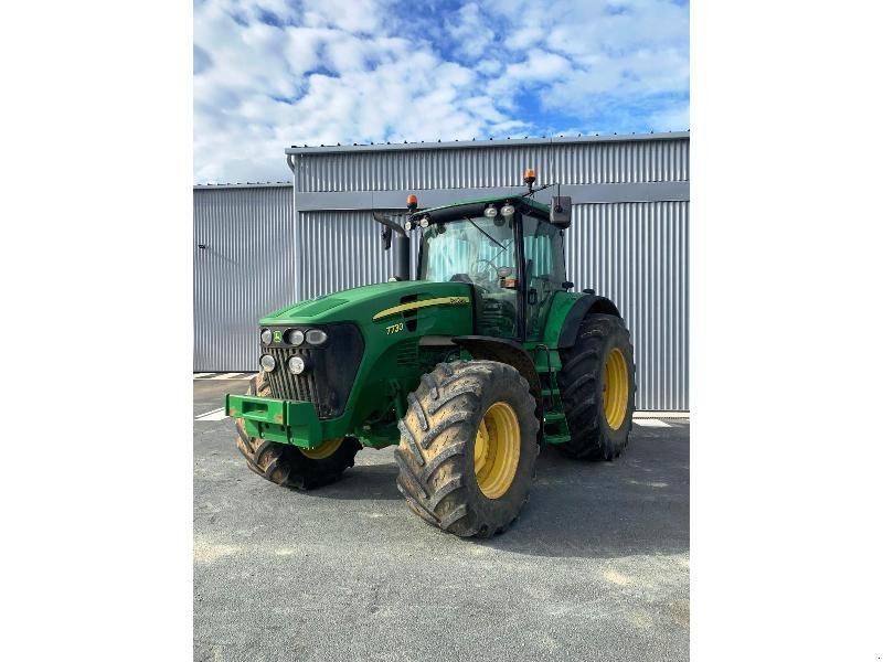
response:
{"label": "yellow rim of the front wheel nearest the camera", "polygon": [[507,403],[492,404],[476,433],[476,479],[485,496],[499,499],[506,494],[520,456],[521,428],[515,410]]}

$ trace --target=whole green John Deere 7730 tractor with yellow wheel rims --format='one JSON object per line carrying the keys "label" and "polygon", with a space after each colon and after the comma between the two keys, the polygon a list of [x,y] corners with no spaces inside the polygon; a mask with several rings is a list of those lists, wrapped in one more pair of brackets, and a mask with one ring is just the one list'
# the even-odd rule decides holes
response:
{"label": "whole green John Deere 7730 tractor with yellow wheel rims", "polygon": [[[227,395],[237,446],[265,479],[310,489],[364,447],[397,445],[407,506],[459,536],[504,531],[542,444],[613,460],[635,406],[629,332],[616,306],[571,292],[571,200],[528,191],[374,214],[395,276],[260,320],[260,372]],[[401,222],[403,221],[403,222]],[[409,274],[411,236],[418,273]]]}

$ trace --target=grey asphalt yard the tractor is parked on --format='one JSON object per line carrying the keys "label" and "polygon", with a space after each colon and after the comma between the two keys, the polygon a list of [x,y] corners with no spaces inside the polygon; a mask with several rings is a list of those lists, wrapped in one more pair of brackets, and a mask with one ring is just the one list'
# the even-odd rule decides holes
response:
{"label": "grey asphalt yard the tractor is parked on", "polygon": [[[194,416],[246,385],[194,381]],[[471,542],[405,508],[391,448],[298,493],[219,417],[193,433],[196,660],[688,659],[685,420],[636,425],[611,463],[543,449],[520,520]]]}

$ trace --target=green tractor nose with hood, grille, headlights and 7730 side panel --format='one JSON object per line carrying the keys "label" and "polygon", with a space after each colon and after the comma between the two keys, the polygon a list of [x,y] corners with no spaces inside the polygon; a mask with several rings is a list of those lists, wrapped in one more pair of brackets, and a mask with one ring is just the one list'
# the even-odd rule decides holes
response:
{"label": "green tractor nose with hood, grille, headlights and 7730 side panel", "polygon": [[[472,291],[467,284],[381,282],[277,310],[260,320],[255,345],[275,361],[274,367],[265,370],[273,397],[315,407],[321,430],[307,429],[302,421],[311,419],[302,412],[290,413],[302,428],[291,434],[309,448],[316,439],[364,435],[373,430],[372,425],[385,429],[372,434],[397,438],[398,428],[387,416],[391,388],[397,389],[397,408],[406,407],[405,394],[426,372],[425,363],[444,360],[454,351],[447,339],[471,334],[474,327]],[[260,338],[264,331],[272,331],[272,341]],[[295,331],[305,335],[298,344],[291,342]],[[313,343],[310,331],[322,331],[325,339]],[[427,337],[434,345],[425,350],[422,363],[419,343]],[[302,362],[297,373],[289,364],[295,357]],[[398,384],[407,384],[407,391]],[[288,420],[287,412],[273,416],[264,423]],[[355,423],[359,427],[353,427]]]}

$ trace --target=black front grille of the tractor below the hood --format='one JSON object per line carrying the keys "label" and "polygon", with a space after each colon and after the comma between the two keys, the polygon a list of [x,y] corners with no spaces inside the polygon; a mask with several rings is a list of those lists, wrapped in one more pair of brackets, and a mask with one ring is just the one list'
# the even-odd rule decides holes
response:
{"label": "black front grille of the tractor below the hood", "polygon": [[[279,327],[270,330],[287,331],[300,329],[306,332],[317,327]],[[334,418],[343,413],[347,399],[362,362],[364,342],[354,324],[328,324],[321,329],[328,333],[328,341],[321,348],[306,343],[299,348],[286,342],[273,343],[264,351],[276,359],[276,369],[267,373],[270,396],[279,399],[300,401],[316,405],[319,418]],[[288,370],[288,360],[301,356],[308,369],[299,374]]]}

